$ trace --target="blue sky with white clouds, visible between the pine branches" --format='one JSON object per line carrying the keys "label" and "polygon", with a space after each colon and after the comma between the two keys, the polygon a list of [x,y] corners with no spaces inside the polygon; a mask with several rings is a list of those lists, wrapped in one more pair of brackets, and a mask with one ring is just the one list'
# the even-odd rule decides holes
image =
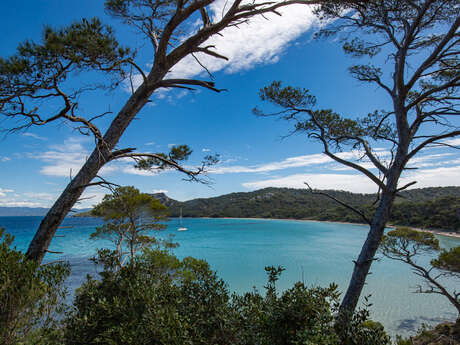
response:
{"label": "blue sky with white clouds, visible between the pine branches", "polygon": [[[213,13],[219,13],[222,3],[217,1]],[[18,1],[0,6],[3,57],[13,54],[17,44],[25,39],[39,39],[45,24],[58,27],[82,17],[99,16],[113,25],[124,45],[143,44],[139,36],[107,17],[102,1]],[[178,200],[269,186],[302,188],[304,181],[315,188],[375,192],[376,188],[365,177],[331,162],[321,154],[320,145],[305,136],[282,139],[291,130],[291,124],[252,114],[254,106],[264,107],[258,90],[273,80],[309,88],[320,107],[352,117],[390,104],[378,88],[360,84],[348,75],[347,67],[355,61],[343,54],[338,42],[311,39],[315,24],[306,7],[286,9],[283,14],[233,28],[212,42],[230,61],[204,62],[217,87],[228,92],[161,92],[153,97],[153,104],[140,112],[119,144],[150,152],[165,152],[173,144],[188,144],[194,150],[187,162],[190,166],[198,164],[208,153],[219,153],[222,161],[209,174],[210,186],[182,181],[183,176],[175,172],[139,172],[129,162],[111,164],[101,174],[144,192],[164,191]],[[148,55],[141,54],[140,63],[147,67]],[[182,63],[173,74],[206,78],[192,60]],[[81,108],[89,113],[107,109],[116,112],[128,97],[124,88],[111,94],[94,93],[82,100]],[[101,123],[103,128],[104,124]],[[8,127],[12,123],[0,125]],[[0,206],[50,206],[92,147],[91,138],[79,135],[65,124],[2,137]],[[385,153],[385,147],[376,147]],[[428,149],[413,165],[419,169],[405,175],[403,181],[417,180],[415,187],[460,185],[460,155],[455,150]],[[85,196],[90,199],[78,206],[96,203],[105,192],[88,189]]]}

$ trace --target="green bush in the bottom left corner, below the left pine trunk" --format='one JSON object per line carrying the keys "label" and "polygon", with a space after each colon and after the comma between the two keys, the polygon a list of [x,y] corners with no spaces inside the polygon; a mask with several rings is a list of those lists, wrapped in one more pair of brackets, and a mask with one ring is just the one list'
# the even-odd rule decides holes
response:
{"label": "green bush in the bottom left corner, below the left pine trunk", "polygon": [[0,344],[52,344],[59,338],[70,266],[40,266],[11,248],[12,242],[0,229]]}

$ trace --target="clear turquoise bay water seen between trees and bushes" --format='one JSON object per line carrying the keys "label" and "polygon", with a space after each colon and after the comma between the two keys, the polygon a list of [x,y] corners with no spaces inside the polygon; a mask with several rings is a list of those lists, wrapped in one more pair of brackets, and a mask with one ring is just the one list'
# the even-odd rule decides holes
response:
{"label": "clear turquoise bay water seen between trees and bushes", "polygon": [[[0,217],[0,226],[15,235],[15,245],[25,250],[37,228],[40,217]],[[89,234],[99,220],[68,218],[50,250],[64,255],[48,254],[46,260],[65,258],[72,264],[68,284],[78,287],[87,273],[95,273],[88,261],[96,248],[108,247],[109,242],[93,241]],[[286,268],[278,283],[286,289],[296,281],[308,285],[328,285],[336,282],[345,289],[357,256],[367,234],[361,225],[319,223],[290,220],[255,219],[184,219],[189,231],[177,232],[178,222],[172,219],[162,236],[173,234],[180,247],[179,257],[194,256],[207,260],[228,283],[230,290],[239,293],[254,286],[262,290],[266,283],[264,267],[282,265]],[[441,246],[460,245],[459,239],[439,237]],[[429,257],[421,262],[427,263]],[[399,262],[382,258],[372,267],[364,295],[371,295],[372,317],[382,322],[389,333],[408,335],[422,322],[437,323],[453,320],[455,309],[437,295],[412,293],[420,280]],[[453,288],[458,281],[449,281]],[[458,289],[458,288],[457,288]]]}

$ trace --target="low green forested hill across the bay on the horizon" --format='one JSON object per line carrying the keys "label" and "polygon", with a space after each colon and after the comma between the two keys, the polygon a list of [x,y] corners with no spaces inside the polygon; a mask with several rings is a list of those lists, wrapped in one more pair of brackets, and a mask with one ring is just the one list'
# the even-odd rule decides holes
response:
{"label": "low green forested hill across the bay on the horizon", "polygon": [[[324,191],[350,205],[371,212],[374,194]],[[417,227],[460,230],[460,187],[412,189],[397,198],[391,221]],[[254,192],[231,193],[214,198],[179,202],[156,194],[177,217],[294,218],[362,222],[356,214],[333,200],[308,190],[265,188]]]}

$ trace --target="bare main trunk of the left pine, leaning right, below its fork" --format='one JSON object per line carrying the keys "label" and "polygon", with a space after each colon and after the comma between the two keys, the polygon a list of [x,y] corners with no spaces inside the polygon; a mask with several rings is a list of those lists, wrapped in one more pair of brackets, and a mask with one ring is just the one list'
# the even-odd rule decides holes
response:
{"label": "bare main trunk of the left pine, leaning right, below its fork", "polygon": [[81,167],[78,174],[67,185],[53,207],[48,211],[45,218],[30,242],[26,257],[30,260],[41,262],[51,240],[56,233],[64,217],[80,198],[86,186],[96,177],[98,171],[110,160],[110,155],[118,143],[123,132],[131,123],[136,114],[147,103],[155,87],[155,80],[161,80],[164,73],[159,73],[157,78],[151,73],[145,81],[128,99],[125,106],[112,121],[104,135],[103,141],[99,142],[91,156]]}

